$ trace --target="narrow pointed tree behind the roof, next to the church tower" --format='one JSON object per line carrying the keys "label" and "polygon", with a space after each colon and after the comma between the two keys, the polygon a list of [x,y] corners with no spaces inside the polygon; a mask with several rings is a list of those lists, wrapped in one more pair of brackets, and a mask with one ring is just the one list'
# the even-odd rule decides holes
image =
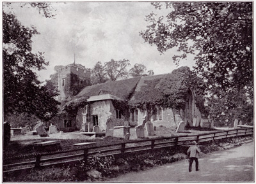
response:
{"label": "narrow pointed tree behind the roof, next to the church tower", "polygon": [[97,83],[104,83],[108,80],[108,78],[106,78],[106,71],[104,70],[104,66],[102,66],[100,61],[95,64],[91,74],[91,81],[93,85]]}

